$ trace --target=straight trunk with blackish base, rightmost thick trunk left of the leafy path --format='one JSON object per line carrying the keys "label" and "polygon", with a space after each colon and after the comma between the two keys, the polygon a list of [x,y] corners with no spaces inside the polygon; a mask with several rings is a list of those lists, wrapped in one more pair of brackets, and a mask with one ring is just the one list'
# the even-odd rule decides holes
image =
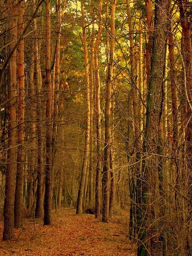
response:
{"label": "straight trunk with blackish base, rightmost thick trunk left of the leafy path", "polygon": [[46,0],[46,35],[45,35],[45,77],[46,77],[46,169],[44,225],[51,225],[52,209],[52,84],[51,84],[51,17],[50,0]]}

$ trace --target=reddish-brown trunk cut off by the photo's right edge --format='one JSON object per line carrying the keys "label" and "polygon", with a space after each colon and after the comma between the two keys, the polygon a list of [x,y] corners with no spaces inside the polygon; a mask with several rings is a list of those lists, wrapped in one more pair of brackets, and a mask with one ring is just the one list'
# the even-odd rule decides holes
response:
{"label": "reddish-brown trunk cut off by the photo's right edge", "polygon": [[[185,154],[186,164],[184,166],[186,169],[181,169],[177,173],[178,178],[176,179],[177,186],[180,188],[183,194],[188,198],[191,198],[191,171],[192,171],[192,24],[191,24],[191,15],[190,15],[190,1],[189,0],[178,0],[178,6],[180,11],[180,25],[182,27],[182,55],[180,52],[180,57],[183,64],[183,78],[182,78],[182,89],[183,89],[183,103],[187,106],[183,112],[184,115],[184,131],[186,136],[186,150],[184,147],[183,154]],[[184,144],[182,142],[182,144]],[[189,252],[192,246],[192,237],[191,237],[191,224],[190,220],[192,219],[192,203],[186,198],[180,197],[180,194],[177,194],[177,212],[178,212],[178,224],[180,227],[185,226],[185,229],[182,228],[178,236],[180,242],[180,248],[178,249],[181,256],[186,255],[186,252]],[[182,210],[182,216],[179,214],[180,209]]]}

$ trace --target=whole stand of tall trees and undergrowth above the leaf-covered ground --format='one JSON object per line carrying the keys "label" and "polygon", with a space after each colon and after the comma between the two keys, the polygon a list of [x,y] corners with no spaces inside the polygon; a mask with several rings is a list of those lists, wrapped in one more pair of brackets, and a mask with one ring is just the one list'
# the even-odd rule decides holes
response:
{"label": "whole stand of tall trees and undergrowth above the leaf-covered ground", "polygon": [[138,256],[192,256],[191,30],[191,0],[0,0],[3,241],[123,209]]}

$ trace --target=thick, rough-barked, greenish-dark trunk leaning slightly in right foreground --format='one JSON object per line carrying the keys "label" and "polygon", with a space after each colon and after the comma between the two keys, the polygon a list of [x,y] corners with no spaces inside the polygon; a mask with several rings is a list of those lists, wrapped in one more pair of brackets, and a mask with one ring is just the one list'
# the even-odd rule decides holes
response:
{"label": "thick, rough-barked, greenish-dark trunk leaning slightly in right foreground", "polygon": [[[161,239],[163,230],[161,225],[155,224],[155,219],[163,216],[163,209],[160,212],[160,194],[163,184],[162,160],[160,157],[151,154],[161,154],[162,144],[162,102],[163,102],[163,82],[165,49],[167,38],[167,15],[169,11],[167,0],[157,0],[155,5],[155,24],[153,34],[153,53],[151,62],[151,76],[148,92],[145,142],[144,151],[150,156],[148,163],[143,161],[143,182],[142,197],[140,203],[145,205],[143,210],[143,228],[146,231],[140,232],[138,239],[142,241],[138,247],[138,255],[150,255],[150,253],[161,254],[160,243],[155,245],[154,240]],[[143,203],[145,202],[145,203]],[[162,224],[163,225],[163,224]],[[163,238],[162,238],[163,239]]]}

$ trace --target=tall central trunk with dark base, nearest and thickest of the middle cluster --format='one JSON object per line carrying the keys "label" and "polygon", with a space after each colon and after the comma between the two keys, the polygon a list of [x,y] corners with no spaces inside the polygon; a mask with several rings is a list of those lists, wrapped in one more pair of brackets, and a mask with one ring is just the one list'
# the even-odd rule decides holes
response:
{"label": "tall central trunk with dark base, nearest and thickest of the middle cluster", "polygon": [[113,80],[113,67],[115,56],[115,9],[116,0],[111,4],[110,14],[110,50],[109,65],[106,80],[106,101],[105,101],[105,141],[104,141],[104,166],[103,166],[103,210],[102,222],[109,222],[109,201],[110,201],[110,184],[111,184],[111,166],[110,166],[110,142],[111,142],[111,87]]}

